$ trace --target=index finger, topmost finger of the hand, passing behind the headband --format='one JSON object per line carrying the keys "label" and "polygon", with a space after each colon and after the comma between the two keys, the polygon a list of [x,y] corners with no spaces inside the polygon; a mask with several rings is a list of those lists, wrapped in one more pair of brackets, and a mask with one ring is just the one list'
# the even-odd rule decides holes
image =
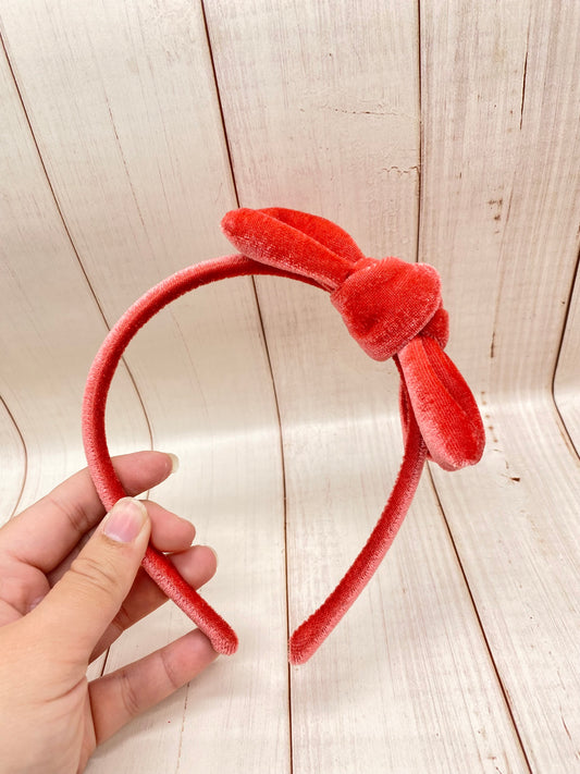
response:
{"label": "index finger, topmost finger of the hand, passing behind the headband", "polygon": [[[176,457],[163,452],[135,452],[113,457],[131,496],[164,481]],[[104,516],[88,469],[71,476],[0,530],[0,554],[50,573]]]}

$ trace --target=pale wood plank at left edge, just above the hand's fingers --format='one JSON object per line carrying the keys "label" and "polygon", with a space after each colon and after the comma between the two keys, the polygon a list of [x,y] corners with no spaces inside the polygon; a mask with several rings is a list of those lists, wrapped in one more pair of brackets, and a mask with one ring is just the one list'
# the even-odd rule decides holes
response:
{"label": "pale wood plank at left edge, just above the hand's fingers", "polygon": [[[54,205],[2,49],[0,102],[0,394],[26,446],[22,509],[85,465],[81,401],[107,329]],[[149,442],[135,390],[121,370],[110,410],[119,451]]]}

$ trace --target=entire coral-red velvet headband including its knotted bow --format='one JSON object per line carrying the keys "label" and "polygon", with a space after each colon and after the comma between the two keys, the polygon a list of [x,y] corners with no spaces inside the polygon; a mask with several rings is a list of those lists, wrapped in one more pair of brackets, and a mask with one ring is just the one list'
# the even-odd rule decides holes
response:
{"label": "entire coral-red velvet headband including its knotted bow", "polygon": [[[367,543],[338,586],[292,635],[289,661],[307,661],[372,577],[393,542],[417,489],[425,458],[445,470],[477,463],[484,431],[476,401],[444,353],[448,317],[440,278],[425,263],[374,260],[334,223],[287,209],[239,209],[222,221],[242,255],[208,260],[178,271],[137,300],[103,342],[91,366],[83,406],[83,435],[90,475],[107,509],[125,496],[107,447],[107,394],[121,356],[160,309],[200,285],[247,274],[300,280],[330,293],[350,334],[375,360],[395,359],[400,373],[403,464],[386,506]],[[159,587],[209,637],[220,653],[233,653],[229,624],[152,546],[143,566]]]}

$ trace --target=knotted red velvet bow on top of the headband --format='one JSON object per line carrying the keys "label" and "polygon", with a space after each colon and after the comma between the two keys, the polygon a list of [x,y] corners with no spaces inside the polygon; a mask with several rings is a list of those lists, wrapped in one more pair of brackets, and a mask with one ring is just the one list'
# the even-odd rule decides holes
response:
{"label": "knotted red velvet bow on top of the headband", "polygon": [[330,291],[348,332],[370,357],[396,357],[405,435],[410,404],[431,459],[445,470],[480,459],[483,426],[471,391],[443,352],[448,315],[433,267],[367,258],[335,223],[295,210],[234,210],[222,229],[249,258]]}

